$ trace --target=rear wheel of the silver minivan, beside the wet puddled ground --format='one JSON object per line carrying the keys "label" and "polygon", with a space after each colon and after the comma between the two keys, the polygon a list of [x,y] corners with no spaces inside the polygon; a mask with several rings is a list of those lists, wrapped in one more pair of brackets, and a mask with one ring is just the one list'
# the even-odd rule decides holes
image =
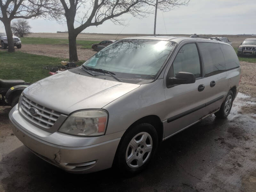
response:
{"label": "rear wheel of the silver minivan, beside the wet puddled ground", "polygon": [[225,101],[220,106],[220,110],[214,113],[214,115],[218,118],[227,118],[232,108],[233,100],[234,100],[234,94],[232,91],[229,90]]}

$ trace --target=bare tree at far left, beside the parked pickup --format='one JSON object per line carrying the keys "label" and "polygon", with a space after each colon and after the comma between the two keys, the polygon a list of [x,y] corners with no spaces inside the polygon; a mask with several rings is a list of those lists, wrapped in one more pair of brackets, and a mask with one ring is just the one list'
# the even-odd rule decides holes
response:
{"label": "bare tree at far left, beside the parked pickup", "polygon": [[0,0],[0,21],[4,23],[8,51],[14,52],[11,21],[13,19],[60,19],[62,9],[58,0]]}

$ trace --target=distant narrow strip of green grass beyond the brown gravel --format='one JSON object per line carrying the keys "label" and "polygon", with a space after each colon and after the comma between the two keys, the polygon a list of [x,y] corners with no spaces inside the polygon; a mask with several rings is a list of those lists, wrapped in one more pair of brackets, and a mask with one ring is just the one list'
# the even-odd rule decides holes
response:
{"label": "distant narrow strip of green grass beyond the brown gravel", "polygon": [[[53,39],[53,38],[40,38],[40,37],[21,37],[22,44],[67,44],[68,39]],[[99,41],[83,41],[76,40],[77,45],[82,45],[82,48],[91,49],[92,44],[100,43]]]}

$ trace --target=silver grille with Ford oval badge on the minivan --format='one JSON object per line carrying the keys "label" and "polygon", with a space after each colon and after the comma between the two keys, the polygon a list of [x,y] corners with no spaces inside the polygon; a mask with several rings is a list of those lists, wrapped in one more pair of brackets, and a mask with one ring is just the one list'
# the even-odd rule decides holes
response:
{"label": "silver grille with Ford oval badge on the minivan", "polygon": [[[29,109],[36,109],[36,114],[32,115]],[[51,128],[56,120],[60,116],[60,112],[54,111],[52,109],[46,108],[39,105],[32,100],[29,100],[24,95],[21,95],[19,103],[20,113],[33,123],[42,126],[44,128]]]}

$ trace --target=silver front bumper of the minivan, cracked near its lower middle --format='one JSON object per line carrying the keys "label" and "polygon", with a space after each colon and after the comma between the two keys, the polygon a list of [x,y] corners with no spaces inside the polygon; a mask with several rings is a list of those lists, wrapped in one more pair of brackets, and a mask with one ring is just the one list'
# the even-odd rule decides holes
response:
{"label": "silver front bumper of the minivan, cracked near its lower middle", "polygon": [[[110,168],[124,133],[81,138],[59,132],[45,132],[20,116],[18,105],[12,108],[9,118],[15,136],[33,153],[72,173],[90,173]],[[84,145],[81,139],[84,139]],[[81,146],[74,147],[76,140],[79,140]]]}

